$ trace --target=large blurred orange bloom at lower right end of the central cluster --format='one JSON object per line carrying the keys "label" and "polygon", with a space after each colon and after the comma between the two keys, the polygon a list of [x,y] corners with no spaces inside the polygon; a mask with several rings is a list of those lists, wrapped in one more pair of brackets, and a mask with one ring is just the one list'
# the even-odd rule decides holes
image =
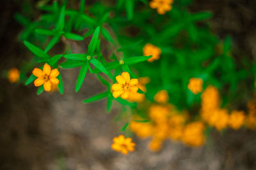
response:
{"label": "large blurred orange bloom at lower right end of the central cluster", "polygon": [[201,146],[205,142],[204,124],[191,122],[184,127],[182,142],[190,146]]}

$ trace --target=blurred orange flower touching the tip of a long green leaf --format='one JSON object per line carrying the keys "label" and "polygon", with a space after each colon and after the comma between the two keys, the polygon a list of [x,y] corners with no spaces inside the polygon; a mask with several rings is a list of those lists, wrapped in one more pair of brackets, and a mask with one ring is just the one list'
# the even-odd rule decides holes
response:
{"label": "blurred orange flower touching the tip of a long green leaf", "polygon": [[143,47],[143,55],[145,55],[145,56],[152,55],[152,57],[150,59],[148,59],[148,62],[153,62],[154,60],[159,60],[160,54],[161,54],[161,49],[158,48],[157,46],[150,44],[150,43],[147,43]]}

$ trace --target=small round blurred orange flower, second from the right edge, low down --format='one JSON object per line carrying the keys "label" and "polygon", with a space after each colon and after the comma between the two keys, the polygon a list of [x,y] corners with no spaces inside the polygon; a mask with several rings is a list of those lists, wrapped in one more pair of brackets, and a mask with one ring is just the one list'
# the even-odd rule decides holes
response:
{"label": "small round blurred orange flower, second from the right edge, low down", "polygon": [[244,124],[244,111],[237,111],[234,110],[232,111],[228,124],[230,127],[232,127],[232,129],[240,129],[240,127]]}

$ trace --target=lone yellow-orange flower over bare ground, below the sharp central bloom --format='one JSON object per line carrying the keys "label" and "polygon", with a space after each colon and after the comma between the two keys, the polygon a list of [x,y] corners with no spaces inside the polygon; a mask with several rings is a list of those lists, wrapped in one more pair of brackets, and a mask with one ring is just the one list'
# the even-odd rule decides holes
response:
{"label": "lone yellow-orange flower over bare ground, below the sharp central bloom", "polygon": [[134,151],[135,143],[132,143],[131,138],[125,138],[124,135],[119,135],[118,137],[113,138],[113,142],[111,148],[117,152],[127,154],[129,151]]}

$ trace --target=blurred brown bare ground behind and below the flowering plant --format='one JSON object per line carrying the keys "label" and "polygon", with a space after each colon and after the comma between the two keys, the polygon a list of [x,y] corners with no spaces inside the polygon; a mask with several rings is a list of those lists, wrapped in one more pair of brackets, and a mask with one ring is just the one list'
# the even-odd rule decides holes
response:
{"label": "blurred brown bare ground behind and below the flowering plant", "polygon": [[[36,20],[40,17],[36,3],[1,1],[1,71],[18,67],[31,57],[18,38],[23,27],[13,16],[17,12],[25,16],[33,13]],[[220,38],[232,37],[234,57],[256,58],[256,1],[196,0],[190,8],[212,11],[212,31]],[[72,46],[83,52],[86,45],[84,41]],[[118,105],[115,103],[111,113],[106,113],[105,100],[83,104],[83,99],[105,89],[88,74],[90,81],[76,93],[78,71],[63,70],[63,96],[58,92],[37,96],[33,85],[10,84],[1,78],[0,169],[256,169],[256,133],[248,129],[225,134],[214,131],[211,143],[200,148],[166,141],[160,152],[152,153],[147,140],[132,136],[134,153],[122,155],[111,150],[112,139],[123,125],[115,122]]]}

